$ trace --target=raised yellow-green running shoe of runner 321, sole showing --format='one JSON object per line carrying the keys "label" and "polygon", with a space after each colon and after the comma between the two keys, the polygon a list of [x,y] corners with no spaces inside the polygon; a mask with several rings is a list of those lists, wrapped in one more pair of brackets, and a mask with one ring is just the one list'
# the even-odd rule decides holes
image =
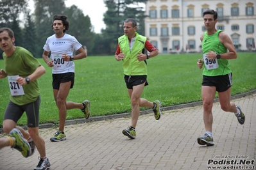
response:
{"label": "raised yellow-green running shoe of runner 321, sole showing", "polygon": [[30,150],[31,150],[30,144],[28,143],[28,141],[26,139],[23,138],[21,131],[17,128],[13,128],[13,130],[11,130],[9,136],[14,137],[16,139],[12,148],[20,151],[21,154],[23,155],[23,157],[25,157],[25,158],[30,157]]}

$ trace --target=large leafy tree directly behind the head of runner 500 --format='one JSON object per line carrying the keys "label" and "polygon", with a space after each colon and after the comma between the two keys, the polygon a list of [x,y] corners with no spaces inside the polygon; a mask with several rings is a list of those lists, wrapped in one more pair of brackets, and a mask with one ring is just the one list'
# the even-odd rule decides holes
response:
{"label": "large leafy tree directly behind the head of runner 500", "polygon": [[[92,33],[92,24],[89,16],[84,16],[83,12],[75,5],[67,8],[65,0],[34,0],[35,2],[35,25],[37,27],[37,36],[40,37],[38,45],[40,49],[44,47],[46,38],[53,35],[51,29],[53,16],[55,14],[67,15],[69,20],[69,30],[67,34],[75,36],[82,45],[87,46],[91,52],[94,46],[94,33]],[[42,52],[41,52],[42,55]]]}

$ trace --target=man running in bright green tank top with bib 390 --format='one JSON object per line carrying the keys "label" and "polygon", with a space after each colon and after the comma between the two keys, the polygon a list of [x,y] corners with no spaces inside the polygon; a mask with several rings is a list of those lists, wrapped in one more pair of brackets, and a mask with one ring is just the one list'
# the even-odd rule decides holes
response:
{"label": "man running in bright green tank top with bib 390", "polygon": [[228,59],[236,59],[237,53],[232,40],[221,30],[216,29],[218,13],[214,10],[203,12],[203,20],[207,31],[201,35],[203,59],[198,59],[198,67],[203,68],[201,97],[203,99],[203,121],[206,133],[198,137],[198,144],[213,146],[212,137],[212,105],[216,91],[219,95],[221,109],[234,112],[238,122],[243,125],[245,116],[239,105],[230,102],[232,71]]}

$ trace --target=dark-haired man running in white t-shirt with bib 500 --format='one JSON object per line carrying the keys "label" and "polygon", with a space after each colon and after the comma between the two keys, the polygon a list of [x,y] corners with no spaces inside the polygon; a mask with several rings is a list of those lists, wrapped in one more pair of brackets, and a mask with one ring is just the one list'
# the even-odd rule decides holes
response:
{"label": "dark-haired man running in white t-shirt with bib 500", "polygon": [[[53,95],[58,107],[59,128],[51,141],[63,141],[66,139],[64,133],[67,110],[81,109],[85,118],[90,117],[90,102],[85,100],[82,103],[67,102],[69,89],[74,86],[74,63],[73,60],[87,58],[87,54],[81,43],[74,36],[65,33],[69,29],[69,21],[65,15],[55,15],[51,25],[55,35],[49,36],[44,45],[42,58],[47,66],[53,68]],[[77,55],[73,56],[76,50]],[[51,56],[49,59],[49,53]]]}

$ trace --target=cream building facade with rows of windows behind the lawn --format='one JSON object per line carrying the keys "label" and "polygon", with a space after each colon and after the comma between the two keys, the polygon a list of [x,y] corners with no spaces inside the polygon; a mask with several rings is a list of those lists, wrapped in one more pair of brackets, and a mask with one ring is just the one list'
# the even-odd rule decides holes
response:
{"label": "cream building facade with rows of windows behind the lawn", "polygon": [[230,36],[237,51],[255,50],[256,0],[149,0],[145,36],[161,54],[201,52],[205,10],[216,10],[216,29]]}

